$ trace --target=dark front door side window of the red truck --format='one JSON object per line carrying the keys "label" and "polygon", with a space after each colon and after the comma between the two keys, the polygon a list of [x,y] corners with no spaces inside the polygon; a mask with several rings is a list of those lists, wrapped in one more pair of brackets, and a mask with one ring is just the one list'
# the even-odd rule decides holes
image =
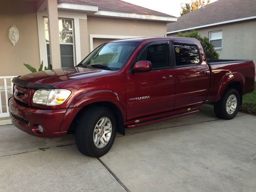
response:
{"label": "dark front door side window of the red truck", "polygon": [[169,67],[169,45],[148,46],[140,55],[138,60],[148,60],[152,69]]}

